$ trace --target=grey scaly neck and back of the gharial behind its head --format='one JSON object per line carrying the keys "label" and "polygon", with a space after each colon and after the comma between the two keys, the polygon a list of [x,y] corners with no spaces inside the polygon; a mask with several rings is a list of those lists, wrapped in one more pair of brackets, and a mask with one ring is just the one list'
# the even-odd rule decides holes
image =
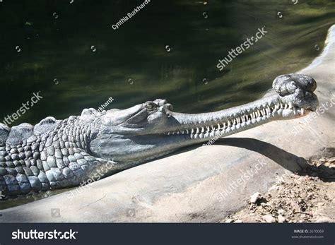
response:
{"label": "grey scaly neck and back of the gharial behind its head", "polygon": [[90,178],[94,169],[107,162],[87,153],[90,127],[97,127],[98,121],[97,117],[83,124],[76,116],[63,121],[48,117],[40,125],[49,125],[50,130],[41,134],[30,124],[14,126],[11,134],[16,135],[15,140],[0,147],[3,194],[74,186]]}

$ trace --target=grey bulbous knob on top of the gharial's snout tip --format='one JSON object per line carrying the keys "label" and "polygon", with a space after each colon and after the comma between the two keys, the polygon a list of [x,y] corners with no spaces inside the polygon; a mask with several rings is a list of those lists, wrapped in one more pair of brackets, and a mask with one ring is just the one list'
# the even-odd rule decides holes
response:
{"label": "grey bulbous knob on top of the gharial's snout tip", "polygon": [[317,88],[317,82],[311,76],[291,73],[276,77],[272,87],[279,95],[288,95],[294,94],[297,89],[313,92]]}

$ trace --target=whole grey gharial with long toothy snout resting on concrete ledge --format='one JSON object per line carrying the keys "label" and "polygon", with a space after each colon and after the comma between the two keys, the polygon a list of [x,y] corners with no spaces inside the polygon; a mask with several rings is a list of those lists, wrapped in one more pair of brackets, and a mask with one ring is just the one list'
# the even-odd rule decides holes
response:
{"label": "whole grey gharial with long toothy snout resting on concrete ledge", "polygon": [[218,112],[177,113],[158,99],[107,112],[84,109],[64,120],[47,117],[35,126],[0,124],[0,191],[16,196],[76,186],[187,145],[317,108],[317,84],[310,76],[278,76],[273,88],[276,95]]}

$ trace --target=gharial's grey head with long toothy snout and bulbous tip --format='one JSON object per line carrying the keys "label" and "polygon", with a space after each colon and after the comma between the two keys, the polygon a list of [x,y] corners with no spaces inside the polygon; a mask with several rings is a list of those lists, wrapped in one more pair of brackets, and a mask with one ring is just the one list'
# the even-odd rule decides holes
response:
{"label": "gharial's grey head with long toothy snout and bulbous tip", "polygon": [[173,112],[172,104],[160,99],[111,109],[101,116],[90,150],[116,162],[144,162],[269,121],[303,116],[317,108],[316,87],[310,76],[289,74],[274,80],[276,95],[217,112]]}

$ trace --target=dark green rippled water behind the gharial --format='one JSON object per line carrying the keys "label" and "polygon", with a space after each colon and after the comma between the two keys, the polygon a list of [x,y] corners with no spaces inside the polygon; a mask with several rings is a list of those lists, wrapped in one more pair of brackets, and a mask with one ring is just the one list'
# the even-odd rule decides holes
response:
{"label": "dark green rippled water behind the gharial", "polygon": [[[0,2],[0,121],[37,91],[43,99],[11,126],[108,97],[107,109],[160,97],[190,113],[249,102],[307,66],[334,23],[333,1],[151,1],[113,30],[143,1],[70,1]],[[218,59],[264,25],[268,33],[219,71]]]}

